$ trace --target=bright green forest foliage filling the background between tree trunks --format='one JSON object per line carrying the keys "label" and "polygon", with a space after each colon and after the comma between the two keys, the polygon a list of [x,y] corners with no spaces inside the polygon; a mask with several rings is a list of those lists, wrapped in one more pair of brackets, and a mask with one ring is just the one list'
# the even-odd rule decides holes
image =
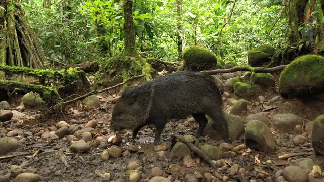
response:
{"label": "bright green forest foliage filling the background between tree trunks", "polygon": [[[188,45],[202,45],[220,60],[227,58],[246,64],[247,51],[251,48],[264,43],[281,47],[285,43],[285,19],[276,22],[281,1],[237,0],[228,21],[233,2],[182,1],[179,32],[177,1],[137,0],[133,14],[136,46],[146,57],[175,60],[179,55],[177,37],[180,34],[183,49]],[[23,3],[48,57],[77,63],[99,60],[102,50],[98,45],[106,47],[108,57],[123,51],[125,34],[120,1],[54,0],[49,8],[43,8],[42,4],[40,0]]]}

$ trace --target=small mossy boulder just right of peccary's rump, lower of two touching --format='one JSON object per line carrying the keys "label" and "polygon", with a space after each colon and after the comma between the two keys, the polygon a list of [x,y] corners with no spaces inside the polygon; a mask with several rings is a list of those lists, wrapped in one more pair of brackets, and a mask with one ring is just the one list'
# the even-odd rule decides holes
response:
{"label": "small mossy boulder just right of peccary's rump, lower of two touching", "polygon": [[256,85],[248,83],[236,82],[234,84],[234,93],[241,98],[251,98],[261,93],[261,90]]}

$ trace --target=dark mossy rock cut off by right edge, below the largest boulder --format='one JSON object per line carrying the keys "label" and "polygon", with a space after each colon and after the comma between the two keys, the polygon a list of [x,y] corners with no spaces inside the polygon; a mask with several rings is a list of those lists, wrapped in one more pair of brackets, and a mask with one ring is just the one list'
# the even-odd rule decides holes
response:
{"label": "dark mossy rock cut off by right edge, below the largest boulder", "polygon": [[315,119],[312,130],[312,145],[316,154],[324,155],[324,117]]}

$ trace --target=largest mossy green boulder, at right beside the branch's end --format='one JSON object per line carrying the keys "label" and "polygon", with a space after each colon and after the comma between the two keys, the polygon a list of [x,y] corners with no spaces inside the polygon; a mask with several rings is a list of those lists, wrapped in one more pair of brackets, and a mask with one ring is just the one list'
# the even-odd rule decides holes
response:
{"label": "largest mossy green boulder, at right beside the branch's end", "polygon": [[280,74],[282,97],[298,97],[324,89],[324,57],[305,55],[296,58]]}

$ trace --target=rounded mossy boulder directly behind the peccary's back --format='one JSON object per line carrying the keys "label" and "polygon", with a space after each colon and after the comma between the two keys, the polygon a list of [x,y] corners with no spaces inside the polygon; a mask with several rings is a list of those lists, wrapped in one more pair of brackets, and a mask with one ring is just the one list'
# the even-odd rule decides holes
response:
{"label": "rounded mossy boulder directly behind the peccary's back", "polygon": [[217,64],[216,55],[199,45],[189,46],[183,51],[182,56],[185,70],[209,70]]}

